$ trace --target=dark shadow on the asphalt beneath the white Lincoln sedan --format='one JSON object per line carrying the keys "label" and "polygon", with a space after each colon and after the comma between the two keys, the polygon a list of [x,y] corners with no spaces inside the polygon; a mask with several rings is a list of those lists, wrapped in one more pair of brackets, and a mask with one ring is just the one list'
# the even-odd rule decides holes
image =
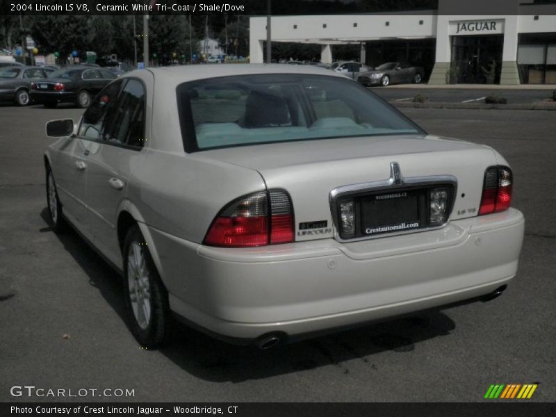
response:
{"label": "dark shadow on the asphalt beneath the white Lincoln sedan", "polygon": [[[48,225],[47,208],[40,215]],[[50,230],[49,227],[40,229],[41,232]],[[56,236],[88,275],[89,284],[98,289],[127,323],[117,272],[75,231]],[[187,373],[211,382],[241,382],[330,365],[349,374],[353,361],[358,369],[363,365],[373,372],[379,366],[373,363],[374,354],[388,350],[396,354],[411,352],[416,343],[446,336],[453,329],[455,323],[444,313],[426,311],[261,351],[229,345],[174,322],[170,341],[159,352]]]}

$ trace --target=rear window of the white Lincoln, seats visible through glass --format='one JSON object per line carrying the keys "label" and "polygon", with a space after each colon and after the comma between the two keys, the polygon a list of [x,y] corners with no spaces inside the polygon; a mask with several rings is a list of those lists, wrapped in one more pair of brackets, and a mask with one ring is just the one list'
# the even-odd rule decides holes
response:
{"label": "rear window of the white Lincoln, seats visible through glass", "polygon": [[177,89],[187,152],[345,136],[423,134],[361,85],[335,76],[257,74]]}

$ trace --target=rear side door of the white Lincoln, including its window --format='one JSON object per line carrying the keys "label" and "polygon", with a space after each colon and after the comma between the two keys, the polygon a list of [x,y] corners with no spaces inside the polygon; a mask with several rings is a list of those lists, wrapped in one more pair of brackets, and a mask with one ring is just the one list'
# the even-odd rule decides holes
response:
{"label": "rear side door of the white Lincoln, including its window", "polygon": [[[117,97],[109,96],[121,85]],[[124,79],[108,85],[93,101],[107,102],[101,121],[99,147],[89,154],[87,224],[95,244],[116,265],[121,263],[117,240],[117,208],[126,198],[133,158],[142,157],[145,144],[145,85]]]}

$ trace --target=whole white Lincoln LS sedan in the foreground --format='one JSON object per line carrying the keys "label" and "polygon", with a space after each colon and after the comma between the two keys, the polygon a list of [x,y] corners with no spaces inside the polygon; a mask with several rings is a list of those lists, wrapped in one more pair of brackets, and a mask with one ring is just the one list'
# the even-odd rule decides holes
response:
{"label": "whole white Lincoln LS sedan in the foreground", "polygon": [[148,347],[171,312],[269,348],[494,297],[516,275],[524,220],[505,159],[428,135],[328,70],[136,70],[47,136],[53,227],[123,275]]}

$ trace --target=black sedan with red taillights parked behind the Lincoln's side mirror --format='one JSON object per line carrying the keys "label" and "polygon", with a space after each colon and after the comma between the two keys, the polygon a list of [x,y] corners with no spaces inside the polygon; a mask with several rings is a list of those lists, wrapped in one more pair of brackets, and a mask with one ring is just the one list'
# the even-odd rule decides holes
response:
{"label": "black sedan with red taillights parked behind the Lincoln's side mirror", "polygon": [[58,103],[85,108],[97,92],[116,78],[104,68],[72,65],[54,72],[47,80],[31,83],[31,98],[49,108]]}

